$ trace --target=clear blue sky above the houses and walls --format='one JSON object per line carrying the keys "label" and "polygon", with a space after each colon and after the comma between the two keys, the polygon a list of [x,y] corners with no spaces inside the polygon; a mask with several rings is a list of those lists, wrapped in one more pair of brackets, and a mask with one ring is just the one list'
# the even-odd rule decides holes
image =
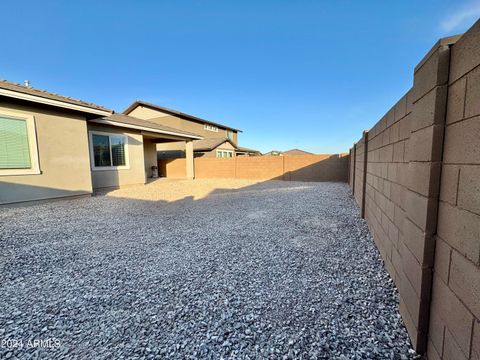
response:
{"label": "clear blue sky above the houses and walls", "polygon": [[6,1],[0,13],[0,78],[116,111],[171,107],[264,152],[331,153],[411,87],[438,38],[475,22],[480,0]]}

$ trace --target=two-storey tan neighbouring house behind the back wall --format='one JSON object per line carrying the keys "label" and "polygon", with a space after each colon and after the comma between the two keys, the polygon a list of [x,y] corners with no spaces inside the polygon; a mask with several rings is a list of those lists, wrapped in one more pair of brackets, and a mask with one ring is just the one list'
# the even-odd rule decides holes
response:
{"label": "two-storey tan neighbouring house behind the back wall", "polygon": [[[194,140],[193,151],[196,157],[233,157],[258,154],[256,150],[238,146],[238,133],[241,130],[177,110],[137,100],[123,113],[202,136],[203,140]],[[157,150],[159,159],[184,157],[184,145],[181,142],[158,144]]]}

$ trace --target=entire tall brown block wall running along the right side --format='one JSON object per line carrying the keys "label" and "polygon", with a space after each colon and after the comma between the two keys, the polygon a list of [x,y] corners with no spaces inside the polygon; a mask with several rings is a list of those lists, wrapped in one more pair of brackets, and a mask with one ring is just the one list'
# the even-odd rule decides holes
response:
{"label": "entire tall brown block wall running along the right side", "polygon": [[431,359],[480,358],[479,65],[480,23],[440,40],[350,150],[350,187]]}

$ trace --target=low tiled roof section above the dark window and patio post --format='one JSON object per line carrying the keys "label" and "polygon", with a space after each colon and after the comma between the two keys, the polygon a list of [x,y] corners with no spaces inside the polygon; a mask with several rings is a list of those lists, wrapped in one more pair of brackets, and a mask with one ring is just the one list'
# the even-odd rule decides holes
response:
{"label": "low tiled roof section above the dark window and patio post", "polygon": [[98,123],[98,124],[126,127],[126,128],[150,131],[150,132],[159,133],[159,134],[179,136],[179,137],[184,137],[188,139],[202,139],[200,135],[197,135],[191,132],[174,129],[169,126],[160,125],[148,120],[138,119],[136,117],[125,115],[125,114],[112,114],[110,116],[96,118],[89,121]]}

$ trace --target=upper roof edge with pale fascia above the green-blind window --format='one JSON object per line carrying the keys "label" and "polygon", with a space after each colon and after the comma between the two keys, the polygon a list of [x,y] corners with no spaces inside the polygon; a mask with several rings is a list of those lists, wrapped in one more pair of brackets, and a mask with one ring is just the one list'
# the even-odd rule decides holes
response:
{"label": "upper roof edge with pale fascia above the green-blind window", "polygon": [[51,93],[45,90],[27,87],[6,80],[0,80],[0,95],[57,107],[70,108],[97,115],[106,115],[107,113],[113,112],[113,110],[101,105]]}

